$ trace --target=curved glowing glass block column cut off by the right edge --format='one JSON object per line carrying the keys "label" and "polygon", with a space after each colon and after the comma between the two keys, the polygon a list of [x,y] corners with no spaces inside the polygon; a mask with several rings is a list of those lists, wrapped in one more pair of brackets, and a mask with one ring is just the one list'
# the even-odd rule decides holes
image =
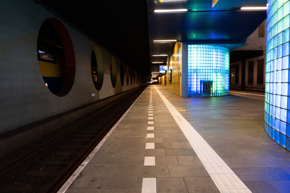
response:
{"label": "curved glowing glass block column cut off by the right edge", "polygon": [[264,128],[272,139],[290,150],[290,1],[267,3]]}

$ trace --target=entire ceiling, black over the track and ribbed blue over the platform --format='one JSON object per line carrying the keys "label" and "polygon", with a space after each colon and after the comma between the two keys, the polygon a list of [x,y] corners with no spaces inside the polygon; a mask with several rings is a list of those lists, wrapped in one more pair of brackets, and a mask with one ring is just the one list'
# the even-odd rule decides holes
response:
{"label": "entire ceiling, black over the track and ribbed blue over the platform", "polygon": [[[154,40],[216,44],[232,51],[246,45],[247,37],[266,19],[266,10],[240,8],[265,7],[267,3],[267,0],[35,1],[63,17],[144,76],[150,76],[160,65],[152,62],[166,64],[166,56],[153,55],[170,56],[173,50],[174,42],[153,43]],[[187,11],[154,12],[180,8]]]}

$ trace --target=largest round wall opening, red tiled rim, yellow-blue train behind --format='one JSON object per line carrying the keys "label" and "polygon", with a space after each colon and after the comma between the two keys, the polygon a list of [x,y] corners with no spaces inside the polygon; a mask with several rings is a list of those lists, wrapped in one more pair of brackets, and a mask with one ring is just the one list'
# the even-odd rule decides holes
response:
{"label": "largest round wall opening, red tiled rim, yellow-blue train behind", "polygon": [[38,33],[37,59],[44,84],[55,95],[67,95],[75,80],[75,54],[68,31],[55,18],[46,19]]}

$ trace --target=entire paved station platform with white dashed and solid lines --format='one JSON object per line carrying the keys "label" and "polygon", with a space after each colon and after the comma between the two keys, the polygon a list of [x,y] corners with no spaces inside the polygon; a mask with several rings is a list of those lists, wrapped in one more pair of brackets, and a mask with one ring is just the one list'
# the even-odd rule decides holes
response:
{"label": "entire paved station platform with white dashed and solid lines", "polygon": [[289,192],[263,93],[180,98],[148,85],[59,192]]}

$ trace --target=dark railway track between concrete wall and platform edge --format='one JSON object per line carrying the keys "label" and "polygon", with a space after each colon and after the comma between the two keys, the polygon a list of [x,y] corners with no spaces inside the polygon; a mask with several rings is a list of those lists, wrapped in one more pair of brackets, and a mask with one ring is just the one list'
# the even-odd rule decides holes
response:
{"label": "dark railway track between concrete wall and platform edge", "polygon": [[57,192],[146,87],[0,159],[0,192]]}

